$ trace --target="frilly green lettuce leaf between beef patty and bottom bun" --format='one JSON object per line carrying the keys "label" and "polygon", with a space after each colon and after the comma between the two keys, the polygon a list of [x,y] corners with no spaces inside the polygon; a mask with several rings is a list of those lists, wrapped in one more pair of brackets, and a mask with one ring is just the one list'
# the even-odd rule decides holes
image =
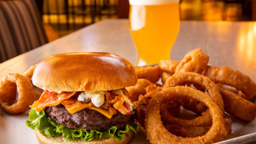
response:
{"label": "frilly green lettuce leaf between beef patty and bottom bun", "polygon": [[113,126],[110,129],[96,131],[85,129],[70,129],[61,124],[57,124],[54,120],[45,115],[44,111],[36,112],[31,110],[28,116],[29,120],[26,120],[26,125],[35,131],[40,131],[49,135],[50,137],[56,137],[62,135],[68,141],[74,139],[83,139],[84,141],[92,141],[94,139],[108,139],[112,137],[116,141],[124,141],[125,134],[131,136],[131,131],[137,133],[139,124],[134,123],[132,125],[126,124],[125,128],[117,129]]}

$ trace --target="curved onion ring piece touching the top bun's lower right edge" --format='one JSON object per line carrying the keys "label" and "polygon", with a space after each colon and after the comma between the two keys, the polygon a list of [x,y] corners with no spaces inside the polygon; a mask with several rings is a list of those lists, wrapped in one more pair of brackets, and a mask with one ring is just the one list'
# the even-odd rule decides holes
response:
{"label": "curved onion ring piece touching the top bun's lower right edge", "polygon": [[137,83],[134,86],[126,87],[125,89],[131,95],[131,101],[135,102],[139,99],[139,95],[146,94],[146,87],[154,85],[148,79],[138,79]]}

